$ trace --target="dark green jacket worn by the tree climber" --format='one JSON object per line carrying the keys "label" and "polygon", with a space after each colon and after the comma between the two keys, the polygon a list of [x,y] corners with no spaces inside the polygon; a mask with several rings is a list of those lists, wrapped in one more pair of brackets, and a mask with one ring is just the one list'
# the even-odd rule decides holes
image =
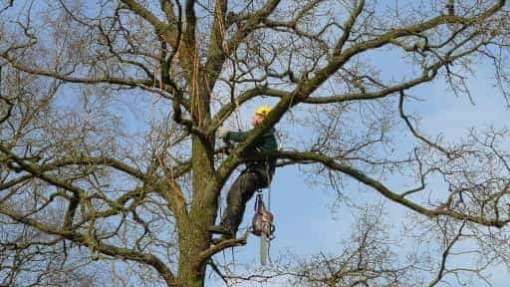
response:
{"label": "dark green jacket worn by the tree climber", "polygon": [[[248,137],[250,132],[251,130],[246,132],[228,132],[225,139],[233,142],[242,142]],[[251,148],[246,151],[246,154],[251,155],[259,152],[274,152],[277,150],[278,142],[276,140],[275,130],[274,128],[271,128],[253,143]],[[270,182],[276,169],[276,158],[267,158],[266,160],[261,161],[249,161],[246,163],[246,169],[257,171],[259,174],[266,177],[268,182]]]}

